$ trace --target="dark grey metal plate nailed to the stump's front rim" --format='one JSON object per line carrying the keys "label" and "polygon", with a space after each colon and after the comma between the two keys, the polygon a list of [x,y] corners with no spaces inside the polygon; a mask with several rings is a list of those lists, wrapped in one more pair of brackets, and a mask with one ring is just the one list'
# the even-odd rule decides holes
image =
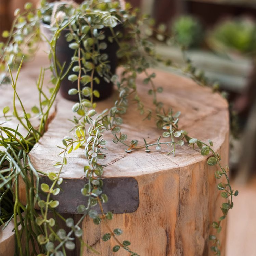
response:
{"label": "dark grey metal plate nailed to the stump's front rim", "polygon": [[[39,188],[41,187],[41,183],[46,183],[50,186],[52,181],[48,177],[42,177],[39,181]],[[56,210],[60,213],[74,214],[78,213],[78,205],[87,205],[88,197],[81,193],[81,189],[86,183],[86,179],[63,179],[60,185],[60,193],[52,196],[53,200],[60,202]],[[139,207],[138,182],[134,178],[103,178],[102,190],[108,196],[108,202],[102,204],[104,212],[132,213]],[[40,196],[42,199],[45,197],[43,192],[41,192]],[[100,213],[98,205],[93,207],[93,209]]]}

